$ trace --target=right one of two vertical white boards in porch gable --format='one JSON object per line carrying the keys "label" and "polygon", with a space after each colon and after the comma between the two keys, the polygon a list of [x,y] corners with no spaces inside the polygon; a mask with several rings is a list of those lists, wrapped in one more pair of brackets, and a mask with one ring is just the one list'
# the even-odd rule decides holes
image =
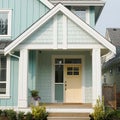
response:
{"label": "right one of two vertical white boards in porch gable", "polygon": [[67,17],[63,15],[63,49],[67,49]]}

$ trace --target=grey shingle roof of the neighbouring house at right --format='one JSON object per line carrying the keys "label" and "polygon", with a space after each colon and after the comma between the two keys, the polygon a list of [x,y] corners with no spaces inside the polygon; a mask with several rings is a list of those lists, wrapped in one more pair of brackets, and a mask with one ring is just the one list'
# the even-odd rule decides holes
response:
{"label": "grey shingle roof of the neighbouring house at right", "polygon": [[120,28],[107,28],[110,41],[115,46],[120,46]]}

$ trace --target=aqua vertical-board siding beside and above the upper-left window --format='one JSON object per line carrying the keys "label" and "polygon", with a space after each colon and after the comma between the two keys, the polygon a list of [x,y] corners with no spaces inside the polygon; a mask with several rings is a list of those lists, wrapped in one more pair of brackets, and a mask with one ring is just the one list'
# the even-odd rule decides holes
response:
{"label": "aqua vertical-board siding beside and above the upper-left window", "polygon": [[48,8],[38,0],[1,0],[0,9],[12,10],[12,39],[48,11]]}

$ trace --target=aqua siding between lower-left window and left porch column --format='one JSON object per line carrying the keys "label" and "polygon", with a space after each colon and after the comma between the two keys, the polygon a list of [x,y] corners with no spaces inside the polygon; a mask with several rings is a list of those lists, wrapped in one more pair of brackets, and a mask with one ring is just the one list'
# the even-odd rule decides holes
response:
{"label": "aqua siding between lower-left window and left porch column", "polygon": [[10,62],[10,98],[0,99],[0,106],[17,106],[18,102],[18,59],[11,58]]}

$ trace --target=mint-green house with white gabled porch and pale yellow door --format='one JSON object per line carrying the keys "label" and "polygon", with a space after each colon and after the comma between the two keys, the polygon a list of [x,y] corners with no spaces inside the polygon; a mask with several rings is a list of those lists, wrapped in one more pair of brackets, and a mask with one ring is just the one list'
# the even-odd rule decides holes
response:
{"label": "mint-green house with white gabled porch and pale yellow door", "polygon": [[[61,3],[60,3],[61,2]],[[90,103],[102,97],[101,56],[116,47],[94,30],[101,0],[0,1],[0,107]]]}

